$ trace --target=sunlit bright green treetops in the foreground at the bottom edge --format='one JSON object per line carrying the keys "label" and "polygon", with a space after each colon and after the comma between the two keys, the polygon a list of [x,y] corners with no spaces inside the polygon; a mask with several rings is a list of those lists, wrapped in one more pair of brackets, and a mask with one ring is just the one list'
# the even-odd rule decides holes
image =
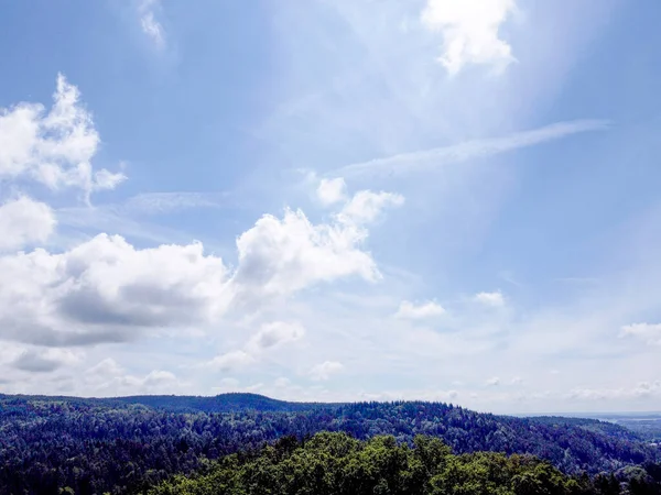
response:
{"label": "sunlit bright green treetops in the foreground at the bottom edge", "polygon": [[317,433],[292,449],[267,447],[259,455],[230,455],[210,472],[175,476],[150,495],[570,495],[598,493],[531,457],[494,452],[453,455],[438,439],[418,437],[414,448],[393,437],[357,441]]}

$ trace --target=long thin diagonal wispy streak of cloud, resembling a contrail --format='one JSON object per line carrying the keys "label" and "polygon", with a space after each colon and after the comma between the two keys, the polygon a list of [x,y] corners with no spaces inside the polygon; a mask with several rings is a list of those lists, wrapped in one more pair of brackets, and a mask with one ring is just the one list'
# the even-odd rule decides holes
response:
{"label": "long thin diagonal wispy streak of cloud, resembling a contrail", "polygon": [[503,138],[466,141],[449,146],[412,153],[401,153],[384,158],[355,163],[336,169],[332,175],[356,177],[365,175],[395,175],[429,170],[451,163],[466,162],[497,155],[522,147],[534,146],[583,132],[604,131],[606,120],[575,120],[557,122],[532,131],[517,132]]}

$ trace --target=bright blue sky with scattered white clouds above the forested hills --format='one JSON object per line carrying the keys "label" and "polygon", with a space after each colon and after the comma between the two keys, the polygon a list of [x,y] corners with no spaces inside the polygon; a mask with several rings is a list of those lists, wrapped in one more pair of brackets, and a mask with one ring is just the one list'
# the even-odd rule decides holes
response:
{"label": "bright blue sky with scattered white clouds above the forested hills", "polygon": [[661,410],[659,14],[0,1],[0,393]]}

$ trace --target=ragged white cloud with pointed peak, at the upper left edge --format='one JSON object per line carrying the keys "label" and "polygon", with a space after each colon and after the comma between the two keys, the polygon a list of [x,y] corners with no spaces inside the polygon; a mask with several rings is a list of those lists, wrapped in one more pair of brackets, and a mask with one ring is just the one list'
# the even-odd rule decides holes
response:
{"label": "ragged white cloud with pointed peak, at the upper left edge", "polygon": [[122,174],[93,170],[99,135],[79,98],[78,88],[59,74],[47,113],[37,103],[0,109],[0,177],[26,177],[51,189],[78,187],[86,199],[121,183]]}

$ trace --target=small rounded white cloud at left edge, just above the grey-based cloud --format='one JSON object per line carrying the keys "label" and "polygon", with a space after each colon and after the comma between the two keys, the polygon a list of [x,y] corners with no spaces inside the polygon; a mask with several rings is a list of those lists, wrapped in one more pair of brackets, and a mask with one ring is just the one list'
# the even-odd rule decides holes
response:
{"label": "small rounded white cloud at left edge, just above the grey-based cloud", "polygon": [[53,210],[43,202],[21,196],[0,206],[0,251],[44,242],[57,223]]}

